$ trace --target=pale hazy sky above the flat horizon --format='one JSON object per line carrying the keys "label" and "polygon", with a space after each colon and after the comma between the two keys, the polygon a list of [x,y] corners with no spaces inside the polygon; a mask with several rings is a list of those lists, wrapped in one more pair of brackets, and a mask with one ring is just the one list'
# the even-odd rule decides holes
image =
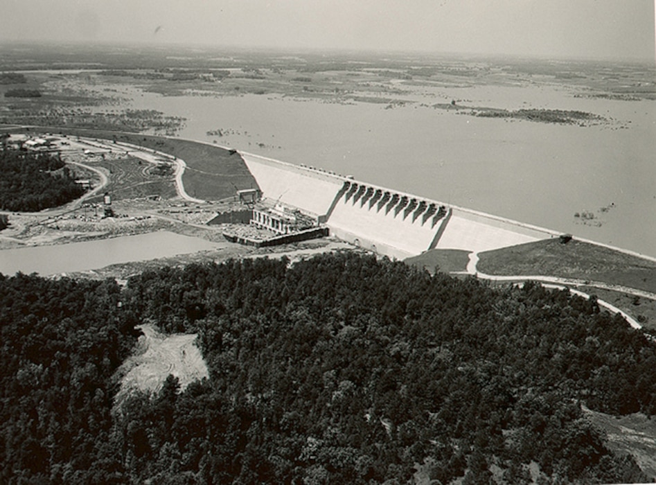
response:
{"label": "pale hazy sky above the flat horizon", "polygon": [[2,0],[0,42],[655,61],[655,0]]}

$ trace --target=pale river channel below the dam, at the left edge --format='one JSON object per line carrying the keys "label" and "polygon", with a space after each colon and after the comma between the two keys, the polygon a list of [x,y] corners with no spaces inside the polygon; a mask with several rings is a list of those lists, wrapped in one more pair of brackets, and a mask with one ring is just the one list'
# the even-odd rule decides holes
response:
{"label": "pale river channel below the dam, at the left edge", "polygon": [[37,272],[42,276],[95,270],[116,263],[168,258],[218,247],[204,239],[158,231],[136,236],[70,243],[55,246],[21,247],[0,251],[0,273],[13,275]]}

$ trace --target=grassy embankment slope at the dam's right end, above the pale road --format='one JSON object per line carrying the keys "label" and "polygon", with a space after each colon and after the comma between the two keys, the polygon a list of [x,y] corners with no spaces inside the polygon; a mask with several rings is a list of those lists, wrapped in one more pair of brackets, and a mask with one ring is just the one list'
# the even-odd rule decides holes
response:
{"label": "grassy embankment slope at the dam's right end, above the pale road", "polygon": [[603,246],[540,240],[480,254],[481,273],[603,281],[656,293],[656,263]]}

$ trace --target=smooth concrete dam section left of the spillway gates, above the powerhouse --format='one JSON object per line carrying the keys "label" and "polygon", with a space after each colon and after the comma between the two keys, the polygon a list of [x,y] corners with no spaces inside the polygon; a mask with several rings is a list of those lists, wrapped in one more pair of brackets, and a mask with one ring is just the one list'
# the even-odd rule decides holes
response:
{"label": "smooth concrete dam section left of the spillway gates, above the powerhouse", "polygon": [[325,215],[342,188],[342,178],[294,164],[240,152],[263,197]]}

